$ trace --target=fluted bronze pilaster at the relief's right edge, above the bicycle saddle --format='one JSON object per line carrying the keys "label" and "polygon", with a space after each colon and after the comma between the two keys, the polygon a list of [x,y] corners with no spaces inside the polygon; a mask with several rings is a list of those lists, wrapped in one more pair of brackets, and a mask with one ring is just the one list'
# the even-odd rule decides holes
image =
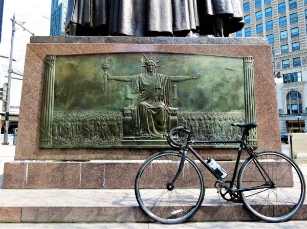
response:
{"label": "fluted bronze pilaster at the relief's right edge, above the bicycle saddle", "polygon": [[[244,85],[245,85],[245,119],[246,122],[256,122],[256,108],[254,95],[254,64],[252,57],[244,58]],[[248,137],[250,145],[257,145],[257,128],[250,131]]]}

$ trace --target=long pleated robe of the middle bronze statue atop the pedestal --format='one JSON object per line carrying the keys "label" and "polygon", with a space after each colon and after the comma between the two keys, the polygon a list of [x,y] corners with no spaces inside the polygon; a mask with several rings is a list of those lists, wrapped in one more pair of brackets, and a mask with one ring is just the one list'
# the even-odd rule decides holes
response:
{"label": "long pleated robe of the middle bronze statue atop the pedestal", "polygon": [[196,0],[111,0],[111,35],[186,36],[196,31]]}

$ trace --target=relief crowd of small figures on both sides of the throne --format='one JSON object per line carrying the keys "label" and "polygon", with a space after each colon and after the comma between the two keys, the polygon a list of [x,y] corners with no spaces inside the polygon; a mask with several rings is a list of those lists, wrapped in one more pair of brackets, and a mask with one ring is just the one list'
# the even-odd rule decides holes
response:
{"label": "relief crowd of small figures on both sides of the throne", "polygon": [[[193,131],[194,139],[239,139],[232,122],[245,122],[244,113],[179,112],[179,125]],[[123,115],[114,111],[55,111],[53,145],[121,145]]]}

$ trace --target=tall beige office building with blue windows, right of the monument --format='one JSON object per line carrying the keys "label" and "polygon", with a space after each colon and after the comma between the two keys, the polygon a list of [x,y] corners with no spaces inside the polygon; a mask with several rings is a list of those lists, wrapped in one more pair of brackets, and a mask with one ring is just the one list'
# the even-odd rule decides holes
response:
{"label": "tall beige office building with blue windows, right of the monument", "polygon": [[282,78],[281,84],[276,84],[280,132],[306,132],[307,0],[241,2],[246,25],[235,36],[267,37],[275,75]]}

